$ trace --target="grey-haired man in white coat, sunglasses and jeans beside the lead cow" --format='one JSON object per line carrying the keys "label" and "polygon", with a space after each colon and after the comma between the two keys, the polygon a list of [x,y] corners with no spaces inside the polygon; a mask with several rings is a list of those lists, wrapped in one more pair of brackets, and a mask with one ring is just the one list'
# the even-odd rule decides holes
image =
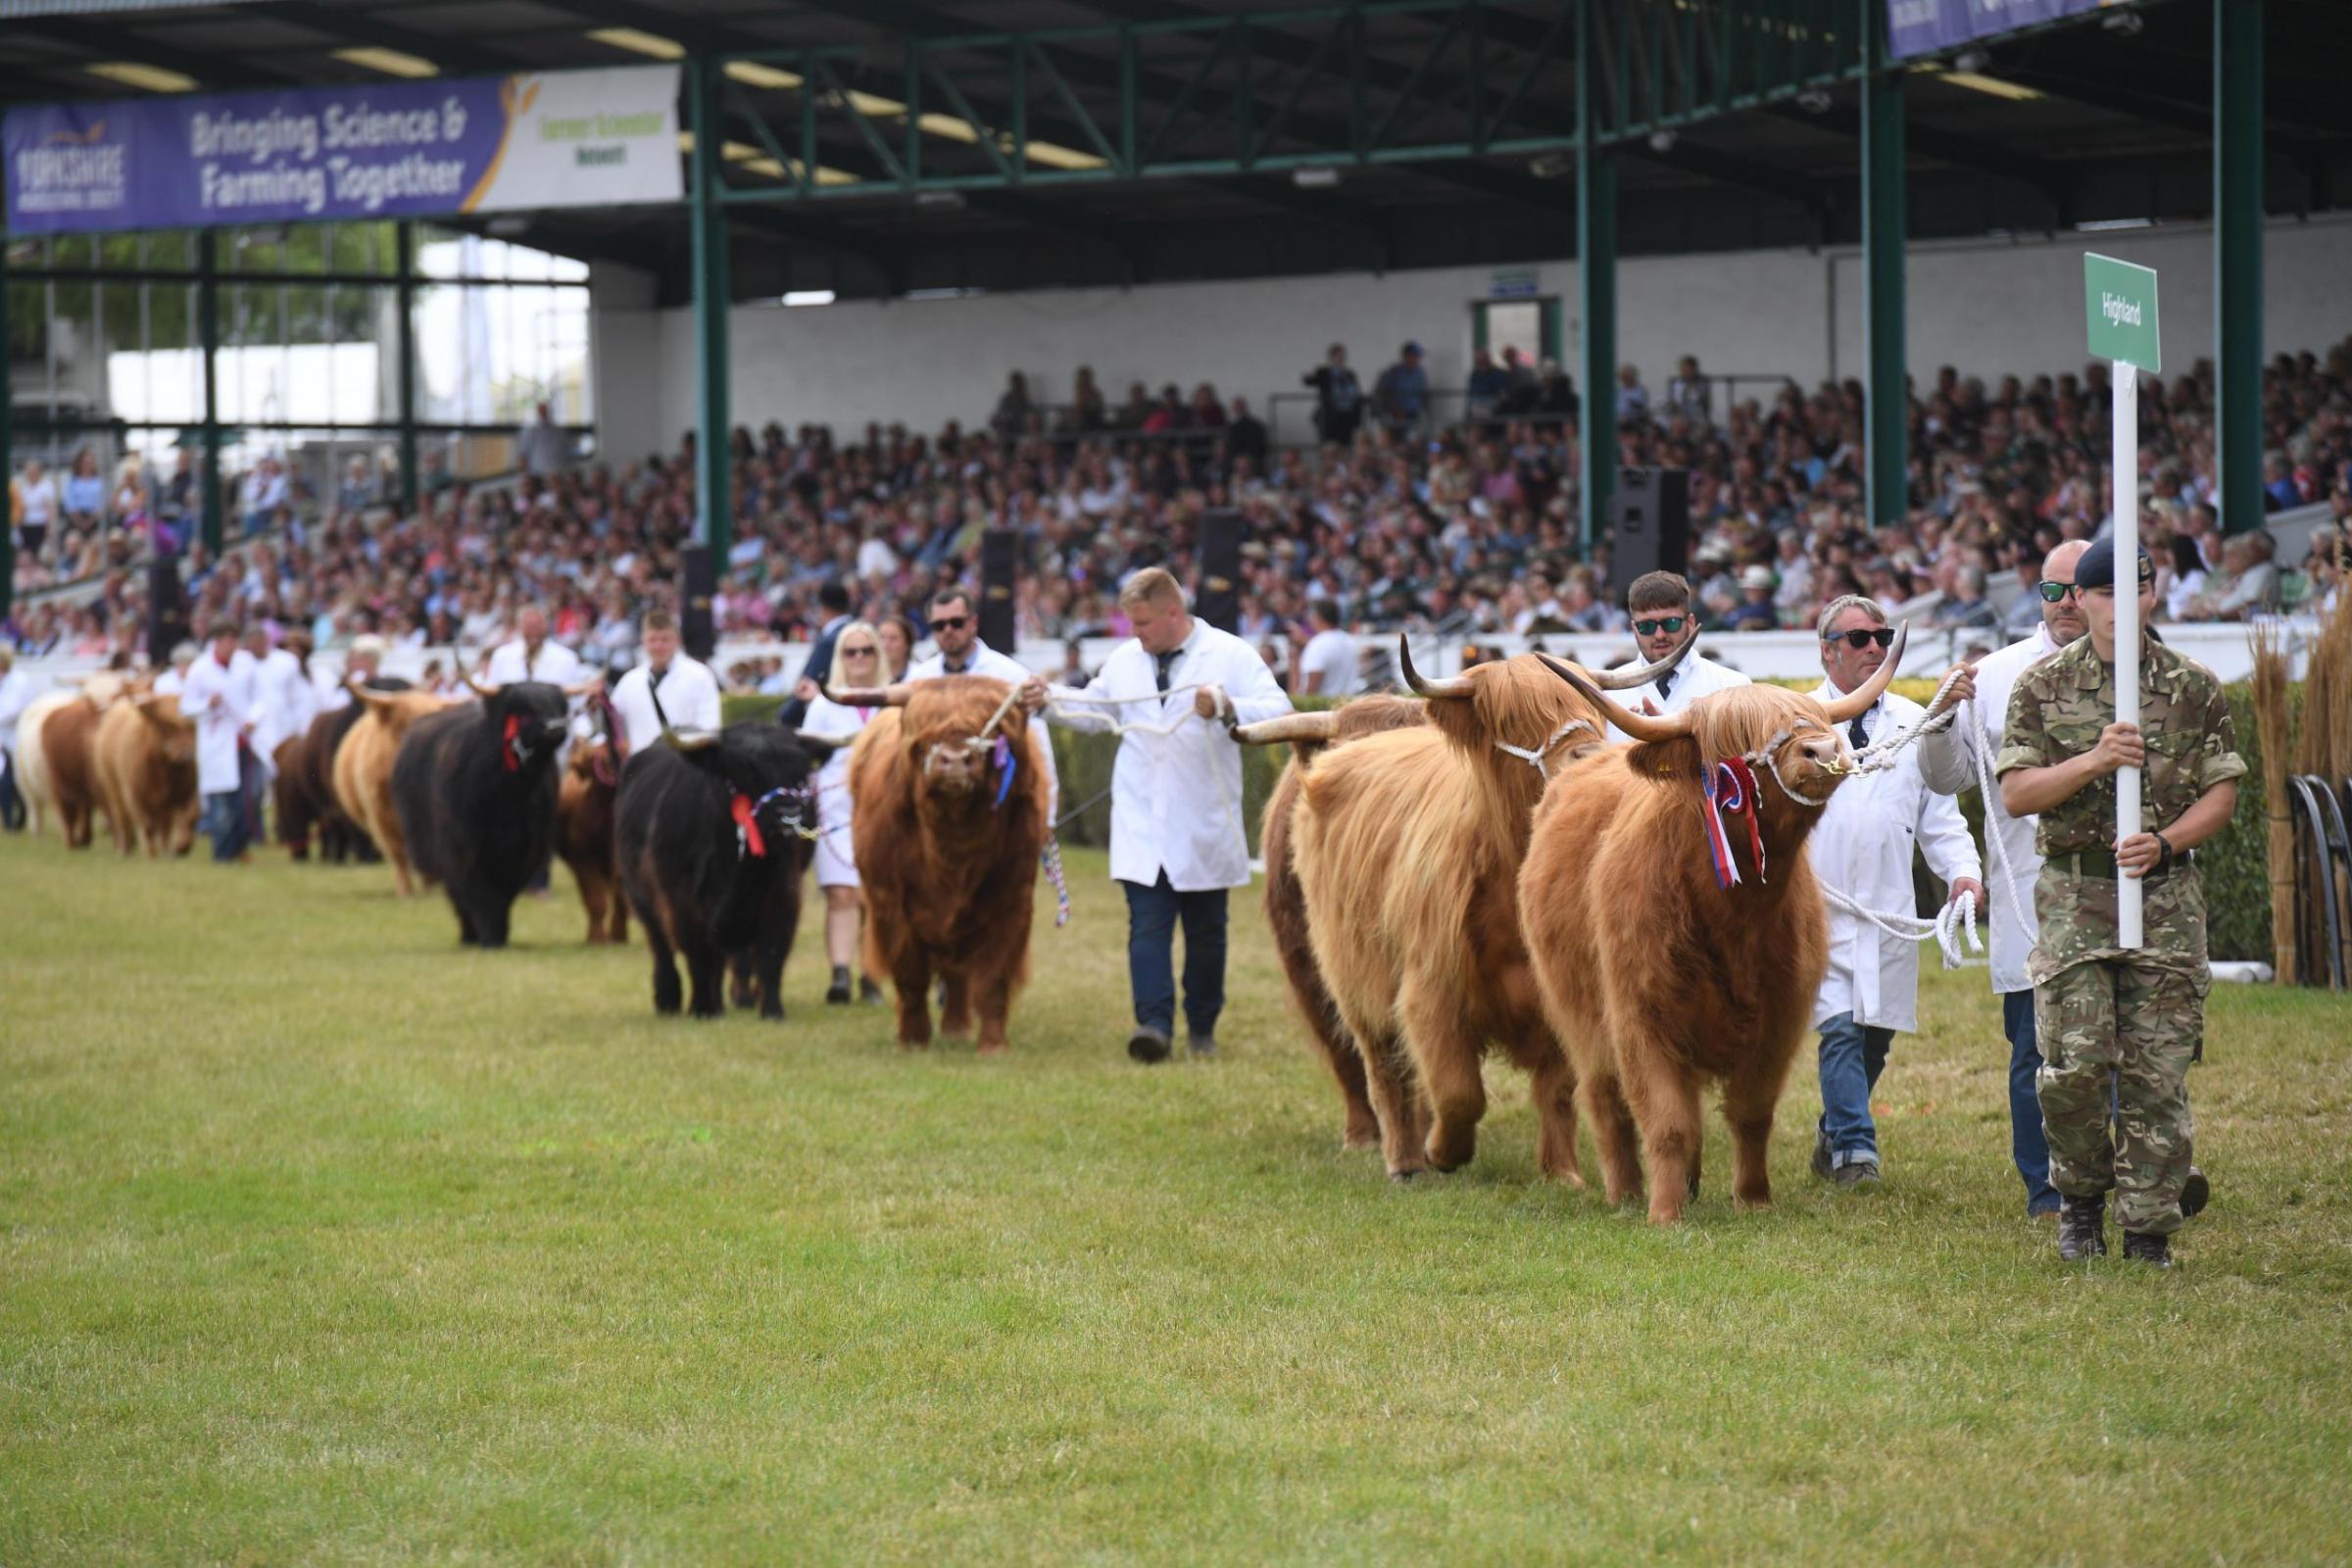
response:
{"label": "grey-haired man in white coat, sunglasses and jeans beside the lead cow", "polygon": [[[1886,663],[1893,630],[1875,599],[1844,595],[1820,611],[1823,698],[1844,696]],[[1889,691],[1846,726],[1846,743],[1860,752],[1926,717],[1919,703]],[[1891,769],[1849,778],[1820,811],[1809,839],[1813,872],[1823,886],[1879,914],[1912,914],[1912,846],[1952,886],[1952,900],[1976,898],[1985,907],[1983,867],[1976,842],[1950,795],[1936,795],[1919,776],[1912,745]],[[1820,1030],[1820,1128],[1813,1138],[1813,1173],[1839,1187],[1879,1180],[1879,1131],[1870,1121],[1870,1091],[1886,1067],[1886,1048],[1898,1030],[1919,1027],[1919,945],[1886,936],[1858,914],[1830,903],[1830,973],[1813,999]]]}

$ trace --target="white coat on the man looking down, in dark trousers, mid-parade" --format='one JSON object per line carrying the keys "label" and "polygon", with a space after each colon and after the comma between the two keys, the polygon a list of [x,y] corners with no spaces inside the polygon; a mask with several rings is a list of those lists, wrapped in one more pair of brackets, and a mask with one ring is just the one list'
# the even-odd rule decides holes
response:
{"label": "white coat on the man looking down, in dark trousers, mid-parade", "polygon": [[[1242,724],[1291,712],[1291,698],[1256,649],[1195,618],[1169,668],[1169,686],[1209,684],[1225,689]],[[1160,696],[1157,665],[1134,637],[1112,649],[1087,696],[1131,701],[1056,708],[1054,719],[1070,729],[1183,719],[1167,736],[1120,736],[1110,771],[1110,875],[1152,886],[1167,872],[1178,893],[1249,886],[1240,743],[1216,719],[1195,717],[1190,691]]]}

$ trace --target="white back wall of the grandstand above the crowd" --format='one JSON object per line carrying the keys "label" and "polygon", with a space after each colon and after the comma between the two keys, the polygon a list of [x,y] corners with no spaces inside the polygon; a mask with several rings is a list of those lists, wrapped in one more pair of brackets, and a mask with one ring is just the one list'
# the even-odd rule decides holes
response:
{"label": "white back wall of the grandstand above the crowd", "polygon": [[[2187,369],[2213,353],[2213,242],[2204,228],[2112,230],[2058,242],[1919,244],[1910,256],[1910,362],[1966,374],[2079,369],[2082,252],[2154,266],[2161,275],[2164,360]],[[1515,268],[1524,270],[1524,268]],[[1576,263],[1534,268],[1569,306],[1576,355]],[[1470,362],[1470,303],[1489,268],[1334,277],[1049,289],[955,301],[741,306],[731,331],[734,421],[786,428],[866,421],[929,433],[950,418],[985,421],[1011,369],[1030,395],[1061,402],[1091,364],[1112,402],[1129,381],[1185,393],[1200,381],[1249,397],[1298,390],[1322,350],[1348,343],[1369,381],[1404,339],[1428,350],[1430,378],[1458,388]],[[2274,223],[2265,247],[2265,353],[2321,350],[2352,334],[2352,221]],[[1788,374],[1811,386],[1860,374],[1863,310],[1856,252],[1736,252],[1656,256],[1618,268],[1618,350],[1661,390],[1682,353],[1717,374]],[[597,303],[597,395],[616,454],[668,449],[694,423],[694,313]],[[1573,362],[1571,362],[1573,374]]]}

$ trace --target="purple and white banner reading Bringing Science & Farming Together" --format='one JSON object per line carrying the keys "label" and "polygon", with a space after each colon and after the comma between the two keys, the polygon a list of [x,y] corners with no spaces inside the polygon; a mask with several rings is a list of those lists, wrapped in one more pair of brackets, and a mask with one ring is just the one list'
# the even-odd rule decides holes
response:
{"label": "purple and white banner reading Bringing Science & Farming Together", "polygon": [[7,110],[16,235],[677,200],[677,68]]}

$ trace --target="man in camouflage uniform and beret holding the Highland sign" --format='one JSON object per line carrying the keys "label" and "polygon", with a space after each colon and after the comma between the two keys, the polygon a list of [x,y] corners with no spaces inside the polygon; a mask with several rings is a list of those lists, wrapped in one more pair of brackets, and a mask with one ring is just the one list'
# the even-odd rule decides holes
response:
{"label": "man in camouflage uniform and beret holding the Highland sign", "polygon": [[[2154,564],[2140,550],[2140,625]],[[2211,670],[2140,635],[2140,724],[2114,722],[2114,543],[2074,567],[2091,635],[2018,677],[1994,771],[2011,816],[2039,813],[2042,938],[2027,973],[2044,1067],[2058,1255],[2107,1251],[2117,1192],[2124,1255],[2171,1267],[2197,1124],[2187,1070],[2204,1048],[2204,884],[2190,851],[2237,809],[2230,703]],[[2114,773],[2140,766],[2140,830],[2114,837]],[[2117,875],[2138,877],[2143,945],[2117,947]],[[2107,1126],[2110,1084],[2114,1131]]]}

